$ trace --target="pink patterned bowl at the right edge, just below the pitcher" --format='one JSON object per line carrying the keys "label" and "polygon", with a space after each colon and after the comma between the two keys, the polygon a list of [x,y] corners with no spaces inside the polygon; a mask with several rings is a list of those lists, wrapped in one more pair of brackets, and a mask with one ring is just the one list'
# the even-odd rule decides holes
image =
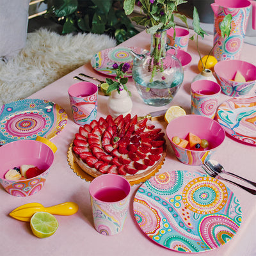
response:
{"label": "pink patterned bowl at the right edge, just below the pitcher", "polygon": [[[256,81],[255,65],[242,60],[219,61],[214,66],[218,83],[223,93],[232,97],[240,97],[248,94],[252,90]],[[244,76],[246,82],[235,82],[234,77],[239,71]]]}

